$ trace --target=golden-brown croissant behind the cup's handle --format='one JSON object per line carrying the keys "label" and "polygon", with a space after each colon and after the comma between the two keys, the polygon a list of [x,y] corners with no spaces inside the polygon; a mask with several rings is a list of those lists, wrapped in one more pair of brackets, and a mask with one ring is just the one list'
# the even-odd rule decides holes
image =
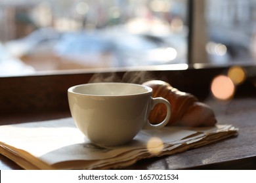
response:
{"label": "golden-brown croissant behind the cup's handle", "polygon": [[[212,126],[217,123],[211,107],[198,101],[194,95],[181,92],[161,80],[150,80],[142,85],[152,88],[152,97],[163,97],[171,103],[172,113],[167,125],[177,124],[197,127]],[[163,121],[166,114],[165,105],[159,103],[150,112],[148,119],[150,122],[158,124]]]}

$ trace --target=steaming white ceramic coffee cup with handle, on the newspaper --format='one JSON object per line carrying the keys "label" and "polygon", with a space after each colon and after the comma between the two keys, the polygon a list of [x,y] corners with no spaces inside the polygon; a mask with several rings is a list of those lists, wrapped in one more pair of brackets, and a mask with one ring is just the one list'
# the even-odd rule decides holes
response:
{"label": "steaming white ceramic coffee cup with handle, on the newspaper", "polygon": [[[141,129],[164,127],[171,116],[170,103],[152,98],[152,88],[140,84],[101,82],[68,89],[68,102],[75,125],[99,146],[118,146],[133,139]],[[160,124],[148,121],[157,103],[167,107]]]}

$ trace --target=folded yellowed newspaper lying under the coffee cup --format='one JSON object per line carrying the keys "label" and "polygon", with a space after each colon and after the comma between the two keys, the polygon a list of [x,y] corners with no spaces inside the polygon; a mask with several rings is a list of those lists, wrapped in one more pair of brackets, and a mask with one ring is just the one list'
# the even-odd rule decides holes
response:
{"label": "folded yellowed newspaper lying under the coffee cup", "polygon": [[142,130],[124,146],[99,147],[72,118],[0,126],[0,153],[24,169],[115,169],[237,135],[232,125]]}

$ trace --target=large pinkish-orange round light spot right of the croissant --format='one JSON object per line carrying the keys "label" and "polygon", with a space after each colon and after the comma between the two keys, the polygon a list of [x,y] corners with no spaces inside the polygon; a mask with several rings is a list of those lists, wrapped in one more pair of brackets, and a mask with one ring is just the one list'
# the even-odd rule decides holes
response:
{"label": "large pinkish-orange round light spot right of the croissant", "polygon": [[216,76],[211,82],[211,92],[217,99],[226,101],[233,97],[235,86],[228,76]]}

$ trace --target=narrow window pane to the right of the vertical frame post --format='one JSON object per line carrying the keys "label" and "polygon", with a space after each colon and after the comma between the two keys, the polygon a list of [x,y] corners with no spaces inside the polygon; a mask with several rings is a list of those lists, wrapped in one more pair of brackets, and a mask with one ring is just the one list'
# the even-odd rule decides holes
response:
{"label": "narrow window pane to the right of the vertical frame post", "polygon": [[253,63],[256,56],[256,1],[205,0],[210,63]]}

